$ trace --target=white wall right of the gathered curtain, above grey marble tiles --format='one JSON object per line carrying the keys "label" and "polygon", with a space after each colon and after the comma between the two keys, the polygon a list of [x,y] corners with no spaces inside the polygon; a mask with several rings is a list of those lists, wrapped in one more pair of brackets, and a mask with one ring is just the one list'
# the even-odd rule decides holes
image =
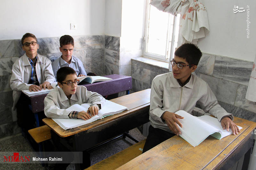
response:
{"label": "white wall right of the gathered curtain, above grey marble tiles", "polygon": [[[199,0],[207,8],[210,32],[198,42],[205,53],[254,61],[256,54],[256,1],[254,0]],[[245,12],[233,12],[234,5]],[[250,6],[250,38],[246,38],[247,12]]]}

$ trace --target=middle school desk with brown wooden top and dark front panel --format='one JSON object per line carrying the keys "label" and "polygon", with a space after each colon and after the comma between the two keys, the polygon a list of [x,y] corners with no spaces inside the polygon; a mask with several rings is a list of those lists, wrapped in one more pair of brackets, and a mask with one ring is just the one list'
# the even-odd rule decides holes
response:
{"label": "middle school desk with brown wooden top and dark front panel", "polygon": [[[66,144],[70,150],[84,151],[149,121],[150,89],[121,96],[110,101],[124,105],[128,110],[68,130],[63,130],[51,118],[44,118],[43,122],[62,137],[62,143]],[[72,146],[65,142],[65,138],[69,136],[72,136]],[[78,164],[76,169],[79,169]]]}

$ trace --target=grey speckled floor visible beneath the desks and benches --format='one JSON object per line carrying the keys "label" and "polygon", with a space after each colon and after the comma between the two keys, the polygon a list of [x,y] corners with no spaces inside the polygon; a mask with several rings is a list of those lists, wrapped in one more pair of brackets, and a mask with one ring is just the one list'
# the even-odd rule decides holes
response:
{"label": "grey speckled floor visible beneath the desks and benches", "polygon": [[[145,137],[140,133],[140,131],[135,128],[129,132],[133,137],[137,138],[139,141],[145,139]],[[135,144],[129,138],[117,138],[105,145],[101,145],[95,149],[90,150],[91,154],[91,165],[108,158],[109,156],[124,150],[125,148]],[[15,135],[12,137],[0,139],[0,152],[32,152],[33,149],[29,145],[28,141],[21,135]],[[44,170],[46,169],[41,164],[0,164],[0,170]],[[74,164],[70,164],[67,170],[74,170]]]}

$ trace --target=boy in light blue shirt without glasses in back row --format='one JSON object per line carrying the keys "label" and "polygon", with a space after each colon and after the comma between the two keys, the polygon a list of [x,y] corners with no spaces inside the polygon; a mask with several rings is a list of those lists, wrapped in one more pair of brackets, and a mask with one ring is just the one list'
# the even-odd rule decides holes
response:
{"label": "boy in light blue shirt without glasses in back row", "polygon": [[74,51],[74,39],[70,35],[63,35],[60,37],[60,52],[62,55],[60,58],[52,62],[52,69],[54,76],[59,68],[68,66],[76,71],[78,77],[87,75],[83,66],[83,63],[78,58],[72,56]]}

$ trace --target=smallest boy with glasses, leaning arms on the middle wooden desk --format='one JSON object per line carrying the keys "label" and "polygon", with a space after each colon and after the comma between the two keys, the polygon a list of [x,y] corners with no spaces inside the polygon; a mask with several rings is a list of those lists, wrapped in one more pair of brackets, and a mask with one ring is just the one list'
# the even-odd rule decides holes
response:
{"label": "smallest boy with glasses, leaning arms on the middle wooden desk", "polygon": [[[92,116],[98,114],[105,99],[96,92],[91,92],[84,86],[78,86],[79,80],[77,79],[76,71],[71,67],[61,67],[57,71],[57,81],[60,88],[55,87],[44,98],[44,113],[50,118],[80,118],[88,120]],[[92,103],[88,110],[84,111],[70,111],[66,110],[73,104]],[[90,113],[90,114],[89,114]],[[51,131],[52,140],[56,144],[58,151],[69,151],[64,145],[60,143],[60,137]],[[68,140],[68,138],[65,138]],[[70,159],[70,162],[72,159]],[[66,169],[69,164],[55,164],[54,169]],[[90,154],[86,151],[83,152],[83,164],[80,165],[81,169],[91,166]]]}

